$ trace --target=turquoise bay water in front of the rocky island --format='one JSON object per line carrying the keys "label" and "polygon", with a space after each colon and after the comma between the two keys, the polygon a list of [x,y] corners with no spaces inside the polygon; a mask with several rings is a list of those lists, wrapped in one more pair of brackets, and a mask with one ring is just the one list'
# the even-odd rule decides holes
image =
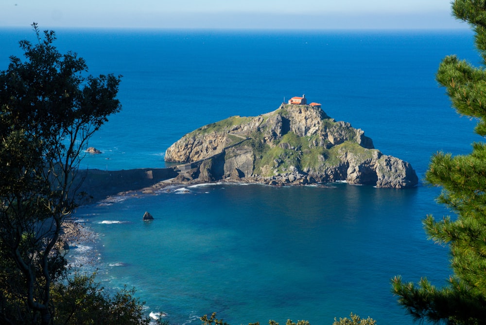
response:
{"label": "turquoise bay water in front of the rocky island", "polygon": [[[217,311],[230,324],[307,319],[332,324],[353,311],[412,324],[390,278],[442,284],[447,251],[427,241],[428,188],[333,184],[212,184],[81,209],[100,234],[100,278],[139,289],[176,324]],[[427,209],[427,210],[425,210]],[[142,222],[144,211],[155,220]],[[197,321],[194,321],[198,324]]]}

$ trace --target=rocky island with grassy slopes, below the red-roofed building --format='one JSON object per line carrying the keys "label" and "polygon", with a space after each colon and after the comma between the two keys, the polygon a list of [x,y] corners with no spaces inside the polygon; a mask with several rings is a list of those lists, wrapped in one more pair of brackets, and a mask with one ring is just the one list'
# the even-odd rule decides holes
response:
{"label": "rocky island with grassy slopes, below the red-roofed building", "polygon": [[363,130],[309,105],[282,104],[271,113],[206,125],[170,146],[165,160],[185,164],[181,181],[282,185],[346,180],[393,188],[418,182],[408,162],[374,149]]}

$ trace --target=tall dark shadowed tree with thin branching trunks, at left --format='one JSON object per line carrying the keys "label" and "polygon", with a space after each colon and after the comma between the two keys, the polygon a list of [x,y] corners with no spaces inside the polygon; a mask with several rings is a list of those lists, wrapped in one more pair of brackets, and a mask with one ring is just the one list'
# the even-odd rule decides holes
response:
{"label": "tall dark shadowed tree with thin branching trunks, at left", "polygon": [[[25,61],[11,56],[0,71],[1,324],[54,323],[62,303],[52,290],[68,275],[59,234],[78,203],[72,179],[88,139],[121,109],[120,77],[85,77],[83,59],[33,27],[35,44],[20,41]],[[128,311],[126,293],[112,302]]]}

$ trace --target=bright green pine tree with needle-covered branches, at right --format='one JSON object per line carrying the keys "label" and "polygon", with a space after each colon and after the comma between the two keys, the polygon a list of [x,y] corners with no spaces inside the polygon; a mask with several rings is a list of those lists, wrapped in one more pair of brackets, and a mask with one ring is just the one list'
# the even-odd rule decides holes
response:
{"label": "bright green pine tree with needle-covered branches, at right", "polygon": [[[436,79],[446,88],[456,111],[476,119],[475,132],[485,136],[486,3],[456,0],[452,10],[476,32],[483,67],[449,56],[440,64]],[[453,274],[443,288],[436,288],[426,278],[415,285],[396,276],[393,292],[417,320],[486,324],[486,145],[474,143],[469,155],[436,153],[425,177],[428,183],[442,187],[438,202],[455,213],[438,221],[428,215],[423,221],[430,239],[449,246]]]}

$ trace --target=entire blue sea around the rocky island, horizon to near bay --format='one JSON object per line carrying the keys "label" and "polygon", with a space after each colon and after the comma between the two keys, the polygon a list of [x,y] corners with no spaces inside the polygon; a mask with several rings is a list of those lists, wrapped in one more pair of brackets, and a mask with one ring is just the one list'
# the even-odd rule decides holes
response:
{"label": "entire blue sea around the rocky island, horizon to near bay", "polygon": [[[350,122],[384,154],[423,179],[436,151],[466,154],[482,140],[451,108],[434,74],[457,54],[479,65],[469,31],[57,30],[93,75],[123,75],[122,112],[89,145],[83,167],[164,167],[168,146],[232,115],[274,111],[305,94]],[[35,34],[0,29],[0,69]],[[447,247],[427,240],[421,220],[450,212],[440,189],[204,184],[156,195],[117,196],[78,209],[96,235],[70,259],[98,270],[107,290],[137,288],[147,314],[200,324],[216,311],[238,325],[273,319],[332,324],[350,312],[379,325],[411,325],[390,279],[427,276],[443,286]],[[155,218],[141,221],[144,211]]]}

